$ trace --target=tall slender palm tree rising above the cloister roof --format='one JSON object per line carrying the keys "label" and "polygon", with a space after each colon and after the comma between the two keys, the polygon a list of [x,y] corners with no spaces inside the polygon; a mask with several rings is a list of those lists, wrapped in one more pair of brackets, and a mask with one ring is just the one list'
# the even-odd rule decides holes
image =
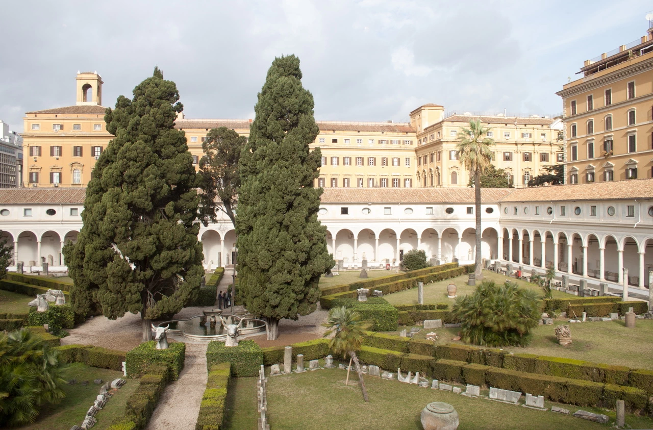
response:
{"label": "tall slender palm tree rising above the cloister roof", "polygon": [[474,262],[476,279],[483,279],[481,272],[481,174],[492,161],[492,150],[494,140],[488,138],[490,129],[483,127],[480,119],[471,119],[470,128],[461,127],[458,132],[458,144],[456,144],[456,155],[458,160],[474,177],[475,189],[475,212],[476,212],[476,256]]}

